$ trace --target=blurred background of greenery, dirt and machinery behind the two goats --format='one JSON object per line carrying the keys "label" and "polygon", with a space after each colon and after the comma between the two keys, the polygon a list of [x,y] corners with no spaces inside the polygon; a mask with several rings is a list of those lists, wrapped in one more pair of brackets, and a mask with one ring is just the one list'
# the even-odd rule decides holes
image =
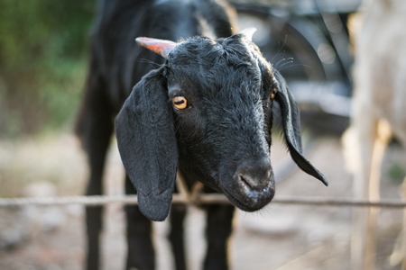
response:
{"label": "blurred background of greenery, dirt and machinery behind the two goats", "polygon": [[[352,35],[358,0],[232,2],[240,28],[255,26],[254,42],[288,80],[300,104],[306,156],[327,175],[325,188],[289,163],[276,140],[272,159],[277,193],[351,197],[340,138],[349,123],[353,91]],[[96,0],[0,0],[0,197],[79,195],[86,160],[72,135],[84,89]],[[135,45],[134,45],[135,46]],[[123,193],[124,171],[112,147],[109,194]],[[399,197],[406,157],[392,143],[383,166],[383,197]],[[278,196],[278,195],[277,195]],[[400,269],[388,257],[401,229],[401,211],[383,210],[378,269]],[[204,213],[191,208],[189,266],[204,254]],[[350,208],[270,205],[238,212],[232,269],[348,269]],[[83,209],[79,206],[0,208],[0,269],[81,269]],[[103,265],[123,269],[124,216],[109,205]],[[167,225],[156,226],[159,269],[172,269]]]}

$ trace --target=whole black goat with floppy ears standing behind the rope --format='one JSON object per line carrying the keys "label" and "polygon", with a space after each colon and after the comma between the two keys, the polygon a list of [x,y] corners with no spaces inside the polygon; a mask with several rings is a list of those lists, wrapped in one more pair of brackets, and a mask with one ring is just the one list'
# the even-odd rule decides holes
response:
{"label": "whole black goat with floppy ears standing behind the rope", "polygon": [[[77,130],[88,153],[87,193],[102,193],[113,119],[125,102],[115,121],[116,136],[129,176],[126,193],[137,193],[139,202],[139,207],[125,207],[127,269],[154,268],[150,220],[164,220],[170,208],[176,267],[186,268],[182,225],[186,208],[171,207],[177,168],[189,188],[198,179],[206,184],[206,192],[225,193],[244,211],[271,202],[270,131],[277,115],[291,157],[327,184],[300,154],[298,109],[283,78],[249,34],[232,35],[228,7],[219,3],[106,0],[101,5]],[[134,48],[137,36],[162,39],[138,41],[166,58],[163,65],[151,70],[151,63],[161,58]],[[180,39],[186,40],[168,41]],[[279,106],[273,106],[274,101]],[[204,268],[227,269],[226,241],[235,208],[220,204],[204,208],[208,211]],[[87,208],[87,224],[88,269],[97,269],[100,207]]]}

